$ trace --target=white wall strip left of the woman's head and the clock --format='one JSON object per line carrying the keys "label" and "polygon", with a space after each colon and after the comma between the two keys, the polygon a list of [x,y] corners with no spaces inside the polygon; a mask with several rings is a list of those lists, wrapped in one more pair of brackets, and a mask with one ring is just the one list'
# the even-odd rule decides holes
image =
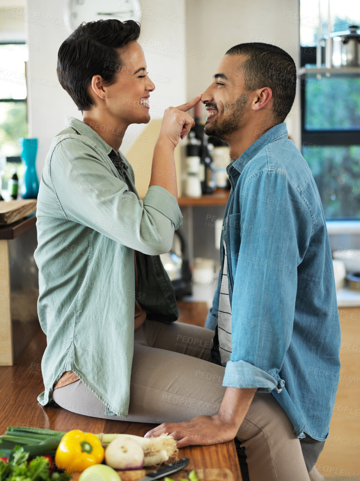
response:
{"label": "white wall strip left of the woman's head and the clock", "polygon": [[56,76],[58,50],[69,36],[63,2],[26,0],[25,9],[27,42],[38,46],[29,49],[27,95],[29,137],[37,137],[41,146],[37,151],[37,174],[40,177],[51,140],[64,128],[65,116],[82,119],[82,115]]}

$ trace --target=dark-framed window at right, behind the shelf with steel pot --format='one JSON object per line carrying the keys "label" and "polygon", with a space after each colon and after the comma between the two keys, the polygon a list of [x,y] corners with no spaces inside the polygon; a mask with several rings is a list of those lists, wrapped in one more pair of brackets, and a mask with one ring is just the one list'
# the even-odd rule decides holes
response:
{"label": "dark-framed window at right, behind the shelf with steel pot", "polygon": [[[316,67],[318,27],[327,32],[327,0],[300,0],[301,66]],[[358,0],[330,1],[331,32],[360,25]],[[359,74],[301,77],[302,154],[329,219],[360,219]]]}

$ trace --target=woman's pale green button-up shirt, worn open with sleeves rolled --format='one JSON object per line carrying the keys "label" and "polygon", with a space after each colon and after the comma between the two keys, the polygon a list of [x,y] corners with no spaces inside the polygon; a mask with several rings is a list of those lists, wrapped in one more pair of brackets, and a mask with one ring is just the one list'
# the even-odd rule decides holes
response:
{"label": "woman's pale green button-up shirt, worn open with sleeves rolled", "polygon": [[[159,254],[171,249],[182,215],[175,197],[160,186],[149,187],[142,201],[124,156],[84,122],[65,120],[51,143],[37,198],[37,309],[47,336],[45,391],[37,400],[47,405],[53,385],[73,371],[108,414],[126,417],[135,296],[148,319],[177,319]],[[111,160],[116,157],[123,177]]]}

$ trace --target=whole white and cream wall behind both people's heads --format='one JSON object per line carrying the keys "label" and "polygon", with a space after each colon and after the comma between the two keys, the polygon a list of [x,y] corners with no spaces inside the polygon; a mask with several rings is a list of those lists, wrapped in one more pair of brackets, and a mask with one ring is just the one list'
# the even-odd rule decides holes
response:
{"label": "whole white and cream wall behind both people's heads", "polygon": [[[40,174],[51,139],[64,127],[66,115],[82,118],[56,76],[57,52],[69,32],[64,1],[26,0],[26,36],[29,49],[29,136],[37,137]],[[106,0],[104,0],[103,4]],[[287,50],[298,65],[298,26],[286,23],[287,11],[298,11],[298,0],[140,0],[141,37],[150,77],[151,116],[161,118],[169,105],[195,97],[211,82],[224,52],[241,42],[263,41]],[[45,21],[38,21],[39,15]],[[186,19],[180,20],[179,19]],[[19,19],[19,21],[21,21]],[[23,20],[22,20],[23,21]],[[300,105],[297,95],[286,120],[294,141],[300,141]],[[290,118],[290,121],[289,121]],[[143,125],[130,126],[122,145],[126,154]]]}

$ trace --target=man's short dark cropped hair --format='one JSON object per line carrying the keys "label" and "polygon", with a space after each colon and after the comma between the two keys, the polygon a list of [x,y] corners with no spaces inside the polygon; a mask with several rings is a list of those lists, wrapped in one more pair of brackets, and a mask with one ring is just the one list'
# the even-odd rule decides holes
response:
{"label": "man's short dark cropped hair", "polygon": [[296,93],[296,66],[283,49],[269,43],[240,43],[225,55],[244,55],[239,65],[250,92],[270,87],[273,91],[273,118],[276,124],[284,122],[294,103]]}

